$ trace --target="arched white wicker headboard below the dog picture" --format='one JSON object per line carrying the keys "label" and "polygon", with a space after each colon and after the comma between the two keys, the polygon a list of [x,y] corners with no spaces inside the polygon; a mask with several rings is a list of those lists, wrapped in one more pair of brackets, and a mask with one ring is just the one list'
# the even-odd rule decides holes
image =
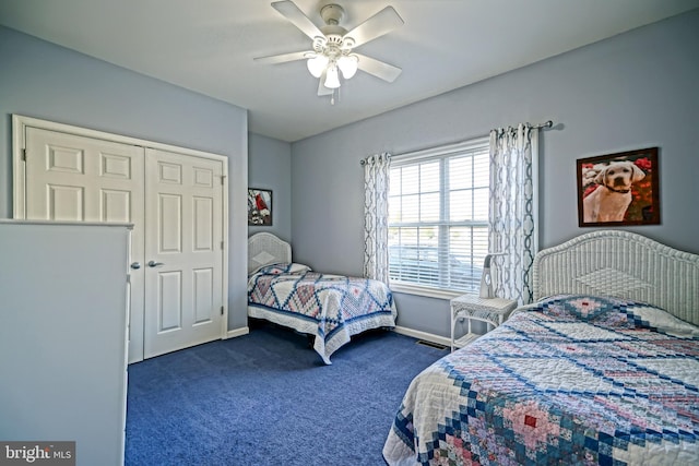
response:
{"label": "arched white wicker headboard below the dog picture", "polygon": [[621,230],[600,230],[534,258],[534,299],[558,294],[648,302],[699,325],[699,255]]}

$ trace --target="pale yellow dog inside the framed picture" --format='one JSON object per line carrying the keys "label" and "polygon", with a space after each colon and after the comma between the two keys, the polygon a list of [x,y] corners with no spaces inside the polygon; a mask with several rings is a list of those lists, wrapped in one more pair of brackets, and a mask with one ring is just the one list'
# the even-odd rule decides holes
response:
{"label": "pale yellow dog inside the framed picture", "polygon": [[632,162],[609,163],[594,179],[597,188],[582,200],[584,222],[623,222],[631,203],[631,184],[644,177]]}

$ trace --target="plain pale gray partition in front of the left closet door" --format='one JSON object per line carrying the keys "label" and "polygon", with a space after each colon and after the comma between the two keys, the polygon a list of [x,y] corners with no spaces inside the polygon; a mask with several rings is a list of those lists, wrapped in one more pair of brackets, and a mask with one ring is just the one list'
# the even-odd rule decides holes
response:
{"label": "plain pale gray partition in front of the left closet door", "polygon": [[125,226],[0,220],[3,441],[70,439],[81,465],[123,465],[128,238]]}

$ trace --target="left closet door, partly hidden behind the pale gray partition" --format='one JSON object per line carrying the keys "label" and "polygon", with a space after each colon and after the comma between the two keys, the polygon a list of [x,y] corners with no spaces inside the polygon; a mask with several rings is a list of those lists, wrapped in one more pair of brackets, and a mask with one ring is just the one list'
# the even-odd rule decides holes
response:
{"label": "left closet door, partly hidden behind the pale gray partition", "polygon": [[[144,240],[143,147],[26,128],[26,218],[133,224],[131,262]],[[97,260],[97,259],[95,259]],[[143,268],[131,270],[129,362],[143,359]]]}

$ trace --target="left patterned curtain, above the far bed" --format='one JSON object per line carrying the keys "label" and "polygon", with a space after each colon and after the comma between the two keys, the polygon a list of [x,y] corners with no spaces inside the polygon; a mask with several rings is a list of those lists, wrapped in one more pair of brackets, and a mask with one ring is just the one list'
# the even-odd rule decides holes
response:
{"label": "left patterned curtain, above the far bed", "polygon": [[389,282],[389,170],[391,155],[364,160],[364,276]]}

